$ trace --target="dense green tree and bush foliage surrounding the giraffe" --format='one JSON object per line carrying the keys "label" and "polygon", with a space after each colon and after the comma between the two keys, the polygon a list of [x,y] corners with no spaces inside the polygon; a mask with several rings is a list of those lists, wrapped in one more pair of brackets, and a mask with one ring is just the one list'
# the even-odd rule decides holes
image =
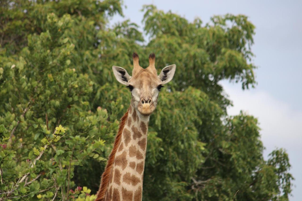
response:
{"label": "dense green tree and bush foliage surrounding the giraffe", "polygon": [[[177,66],[150,117],[144,200],[287,200],[288,155],[262,156],[257,119],[228,116],[220,80],[256,84],[254,25],[214,16],[203,25],[143,7],[150,41],[122,15],[118,0],[2,1],[0,29],[0,198],[93,200],[129,91],[112,65],[156,53]],[[92,194],[92,195],[90,195]],[[235,196],[236,194],[236,196]]]}

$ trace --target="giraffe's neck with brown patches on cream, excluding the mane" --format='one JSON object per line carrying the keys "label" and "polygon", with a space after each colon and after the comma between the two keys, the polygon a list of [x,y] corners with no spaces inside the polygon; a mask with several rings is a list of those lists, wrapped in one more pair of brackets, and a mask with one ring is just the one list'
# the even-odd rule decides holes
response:
{"label": "giraffe's neck with brown patches on cream, excluding the mane", "polygon": [[104,200],[142,200],[148,124],[131,103]]}

